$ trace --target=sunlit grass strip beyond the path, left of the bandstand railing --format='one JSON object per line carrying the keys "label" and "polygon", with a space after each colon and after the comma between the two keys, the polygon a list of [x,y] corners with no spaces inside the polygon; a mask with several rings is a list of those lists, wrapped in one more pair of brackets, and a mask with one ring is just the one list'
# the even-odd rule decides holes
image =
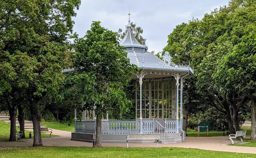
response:
{"label": "sunlit grass strip beyond the path, left of the bandstand railing", "polygon": [[57,130],[66,130],[66,131],[70,131],[70,132],[74,132],[74,130],[75,130],[74,120],[72,121],[70,126],[68,126],[69,122],[64,122],[64,123],[60,123],[60,122],[41,122],[41,124],[42,124],[42,126],[52,128],[52,129],[57,129]]}

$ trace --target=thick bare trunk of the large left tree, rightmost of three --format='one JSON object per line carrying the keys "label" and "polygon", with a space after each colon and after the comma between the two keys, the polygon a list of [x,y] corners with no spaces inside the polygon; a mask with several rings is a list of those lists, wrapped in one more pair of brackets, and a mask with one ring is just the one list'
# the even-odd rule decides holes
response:
{"label": "thick bare trunk of the large left tree, rightmost of three", "polygon": [[31,116],[32,116],[33,130],[34,130],[33,146],[43,146],[41,129],[40,129],[41,115],[35,109],[31,109]]}

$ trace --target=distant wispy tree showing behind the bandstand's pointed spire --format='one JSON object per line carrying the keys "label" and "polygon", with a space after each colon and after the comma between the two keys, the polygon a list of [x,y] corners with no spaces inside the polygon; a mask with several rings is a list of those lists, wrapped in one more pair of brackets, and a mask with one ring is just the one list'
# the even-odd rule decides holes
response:
{"label": "distant wispy tree showing behind the bandstand's pointed spire", "polygon": [[[141,36],[141,34],[143,33],[143,29],[139,26],[136,26],[136,24],[134,24],[133,22],[131,22],[130,24],[132,26],[131,28],[132,28],[132,33],[133,33],[134,37],[137,39],[137,41],[140,44],[145,45],[146,44],[146,39]],[[117,34],[116,37],[118,38],[119,41],[122,41],[122,39],[126,35],[127,30],[128,30],[127,27],[126,27],[126,30],[124,32],[123,32],[122,29],[118,29],[118,34]]]}

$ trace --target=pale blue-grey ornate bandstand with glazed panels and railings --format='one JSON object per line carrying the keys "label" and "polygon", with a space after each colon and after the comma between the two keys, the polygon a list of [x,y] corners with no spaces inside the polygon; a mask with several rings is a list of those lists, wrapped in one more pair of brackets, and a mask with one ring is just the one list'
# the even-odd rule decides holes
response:
{"label": "pale blue-grey ornate bandstand with glazed panels and railings", "polygon": [[[126,47],[130,63],[137,65],[136,116],[134,120],[110,120],[102,117],[102,142],[126,142],[129,133],[159,133],[160,142],[174,143],[185,140],[182,130],[182,88],[184,77],[193,75],[190,65],[176,65],[166,51],[159,59],[148,52],[132,33],[130,13],[126,36],[120,45]],[[64,73],[74,69],[63,70]],[[94,111],[84,111],[83,120],[76,120],[72,140],[92,142],[96,133]]]}

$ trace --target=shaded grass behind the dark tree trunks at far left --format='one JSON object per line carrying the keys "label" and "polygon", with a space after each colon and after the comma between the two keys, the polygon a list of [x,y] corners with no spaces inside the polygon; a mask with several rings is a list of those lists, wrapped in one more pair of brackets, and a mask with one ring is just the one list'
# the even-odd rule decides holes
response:
{"label": "shaded grass behind the dark tree trunks at far left", "polygon": [[[20,130],[20,128],[17,128],[17,131]],[[25,138],[29,138],[29,132],[28,130],[25,130]],[[32,138],[33,138],[33,132],[31,132]],[[42,137],[50,136],[50,134],[42,133]],[[55,136],[55,135],[52,135]],[[10,137],[10,124],[0,120],[0,142],[2,141],[9,141]]]}

